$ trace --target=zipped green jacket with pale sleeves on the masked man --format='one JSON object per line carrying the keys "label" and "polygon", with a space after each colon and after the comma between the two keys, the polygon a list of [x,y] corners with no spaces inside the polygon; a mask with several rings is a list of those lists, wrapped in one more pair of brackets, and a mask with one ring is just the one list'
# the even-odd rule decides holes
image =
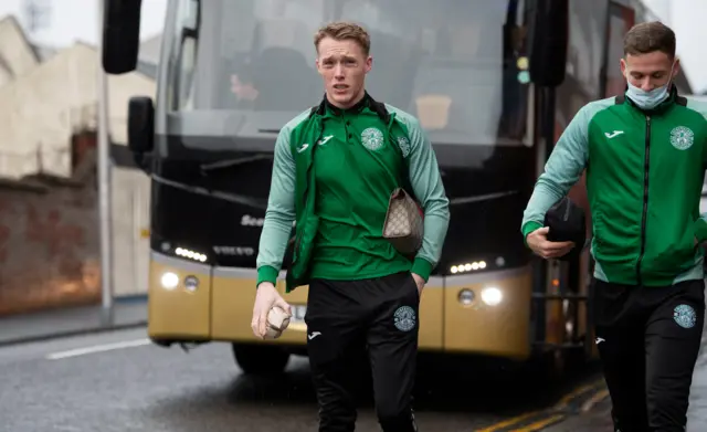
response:
{"label": "zipped green jacket with pale sleeves on the masked man", "polygon": [[707,214],[699,200],[707,152],[707,105],[675,87],[652,110],[625,95],[592,102],[558,140],[524,212],[521,232],[542,226],[547,210],[587,169],[594,277],[666,286],[704,277]]}

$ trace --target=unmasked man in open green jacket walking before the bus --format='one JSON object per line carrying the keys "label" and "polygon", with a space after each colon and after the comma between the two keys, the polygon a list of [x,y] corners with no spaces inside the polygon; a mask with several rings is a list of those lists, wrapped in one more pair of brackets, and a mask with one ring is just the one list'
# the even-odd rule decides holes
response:
{"label": "unmasked man in open green jacket walking before the bus", "polygon": [[[309,285],[305,320],[319,431],[354,430],[347,359],[367,346],[383,431],[412,432],[418,306],[440,259],[449,200],[418,120],[365,89],[368,33],[333,23],[315,46],[326,96],[287,123],[275,144],[253,331],[265,335],[273,305],[289,309],[274,284],[296,221],[287,291]],[[382,236],[390,194],[405,186],[424,211],[424,239],[412,260]]]}

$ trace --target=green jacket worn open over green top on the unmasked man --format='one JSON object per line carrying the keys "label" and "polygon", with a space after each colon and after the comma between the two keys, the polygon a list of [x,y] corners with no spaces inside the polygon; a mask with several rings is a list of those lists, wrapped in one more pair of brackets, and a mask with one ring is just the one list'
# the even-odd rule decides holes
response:
{"label": "green jacket worn open over green top on the unmasked man", "polygon": [[[294,221],[287,292],[312,278],[352,281],[403,271],[429,278],[446,235],[449,200],[434,150],[414,117],[368,94],[346,110],[325,98],[285,125],[274,157],[257,284],[276,281]],[[424,239],[414,260],[382,238],[397,187],[424,209]]]}

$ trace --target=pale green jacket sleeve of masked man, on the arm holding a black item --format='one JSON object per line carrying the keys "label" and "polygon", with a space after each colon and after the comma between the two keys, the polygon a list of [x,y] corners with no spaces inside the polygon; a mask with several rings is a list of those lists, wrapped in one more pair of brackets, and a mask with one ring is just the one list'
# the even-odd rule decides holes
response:
{"label": "pale green jacket sleeve of masked man, on the arm holding a black item", "polygon": [[592,105],[585,105],[572,118],[545,165],[523,213],[523,238],[542,228],[545,213],[577,183],[589,157],[589,122]]}

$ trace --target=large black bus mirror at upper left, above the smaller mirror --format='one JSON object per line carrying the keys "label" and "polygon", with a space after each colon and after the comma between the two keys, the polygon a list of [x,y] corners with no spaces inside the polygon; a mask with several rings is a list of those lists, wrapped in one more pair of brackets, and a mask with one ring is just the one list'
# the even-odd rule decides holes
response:
{"label": "large black bus mirror at upper left, above the smaller mirror", "polygon": [[140,48],[141,0],[103,1],[103,69],[109,74],[135,71]]}

